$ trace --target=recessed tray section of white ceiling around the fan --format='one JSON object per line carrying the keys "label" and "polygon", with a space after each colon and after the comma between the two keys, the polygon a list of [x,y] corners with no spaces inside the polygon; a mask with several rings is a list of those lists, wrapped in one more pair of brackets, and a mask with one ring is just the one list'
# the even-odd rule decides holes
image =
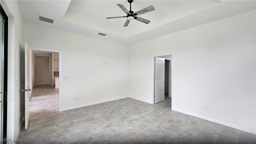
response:
{"label": "recessed tray section of white ceiling around the fan", "polygon": [[123,4],[128,10],[130,9],[129,3],[126,0],[72,0],[63,20],[127,38],[216,6],[220,4],[220,1],[165,0],[159,2],[156,0],[134,0],[132,2],[132,10],[134,12],[150,5],[154,6],[155,10],[140,15],[142,18],[150,20],[149,24],[133,20],[127,27],[123,27],[126,18],[106,19],[106,17],[126,16],[116,4]]}

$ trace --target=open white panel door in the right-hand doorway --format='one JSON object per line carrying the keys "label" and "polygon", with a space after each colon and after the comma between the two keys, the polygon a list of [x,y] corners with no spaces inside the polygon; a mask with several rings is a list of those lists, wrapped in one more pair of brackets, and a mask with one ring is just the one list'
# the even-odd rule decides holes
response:
{"label": "open white panel door in the right-hand doorway", "polygon": [[164,100],[164,58],[155,58],[155,103]]}

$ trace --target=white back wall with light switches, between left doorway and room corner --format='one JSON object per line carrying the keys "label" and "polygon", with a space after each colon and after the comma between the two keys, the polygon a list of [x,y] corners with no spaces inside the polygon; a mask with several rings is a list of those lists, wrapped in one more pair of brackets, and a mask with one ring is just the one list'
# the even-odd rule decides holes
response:
{"label": "white back wall with light switches, between left doorway and room corner", "polygon": [[128,96],[127,45],[30,22],[24,22],[24,42],[62,50],[62,77],[70,75],[62,85],[64,109]]}

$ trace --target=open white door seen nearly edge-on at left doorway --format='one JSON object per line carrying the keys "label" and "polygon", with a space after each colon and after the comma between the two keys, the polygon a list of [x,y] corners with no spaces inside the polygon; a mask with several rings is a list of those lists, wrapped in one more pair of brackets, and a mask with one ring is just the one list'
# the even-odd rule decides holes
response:
{"label": "open white door seen nearly edge-on at left doorway", "polygon": [[28,128],[28,121],[29,121],[29,97],[30,97],[30,83],[29,83],[29,47],[28,44],[25,43],[25,89],[22,90],[25,92],[25,129]]}

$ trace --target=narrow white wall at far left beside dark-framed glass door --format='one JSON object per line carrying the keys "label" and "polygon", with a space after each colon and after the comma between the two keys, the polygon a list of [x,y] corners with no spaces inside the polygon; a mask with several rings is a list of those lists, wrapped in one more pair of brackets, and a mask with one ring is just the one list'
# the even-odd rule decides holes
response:
{"label": "narrow white wall at far left beside dark-framed glass door", "polygon": [[22,124],[23,20],[17,1],[0,0],[8,15],[7,138],[17,138]]}

